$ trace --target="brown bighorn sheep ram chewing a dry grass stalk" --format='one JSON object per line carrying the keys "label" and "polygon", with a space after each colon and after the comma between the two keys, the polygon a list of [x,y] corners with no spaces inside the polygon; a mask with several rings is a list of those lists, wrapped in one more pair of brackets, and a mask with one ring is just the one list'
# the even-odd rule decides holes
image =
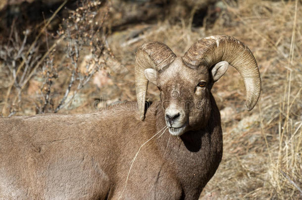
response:
{"label": "brown bighorn sheep ram chewing a dry grass stalk", "polygon": [[[143,44],[138,103],[0,119],[0,199],[197,200],[222,157],[210,90],[229,65],[241,74],[252,110],[261,87],[252,52],[233,37],[211,36],[182,57],[163,43]],[[147,108],[148,81],[161,100]]]}

